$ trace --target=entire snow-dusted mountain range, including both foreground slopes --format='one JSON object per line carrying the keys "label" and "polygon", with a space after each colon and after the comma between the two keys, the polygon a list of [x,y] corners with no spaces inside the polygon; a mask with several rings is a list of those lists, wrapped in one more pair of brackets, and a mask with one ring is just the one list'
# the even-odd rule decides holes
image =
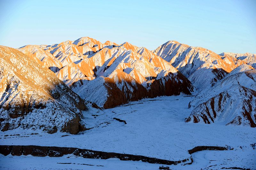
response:
{"label": "entire snow-dusted mountain range, including both foreground slopes", "polygon": [[[185,122],[256,127],[256,55],[168,41],[156,50],[89,37],[0,47],[0,128],[77,134],[81,112],[142,98],[196,95]],[[39,121],[40,120],[40,121]]]}

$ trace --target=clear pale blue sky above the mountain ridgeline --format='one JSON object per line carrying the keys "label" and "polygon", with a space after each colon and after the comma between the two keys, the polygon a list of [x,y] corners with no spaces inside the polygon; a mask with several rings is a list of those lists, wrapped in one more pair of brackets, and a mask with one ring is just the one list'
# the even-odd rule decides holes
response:
{"label": "clear pale blue sky above the mountain ridgeline", "polygon": [[216,53],[256,53],[256,0],[0,0],[0,45],[84,36],[149,50],[175,40]]}

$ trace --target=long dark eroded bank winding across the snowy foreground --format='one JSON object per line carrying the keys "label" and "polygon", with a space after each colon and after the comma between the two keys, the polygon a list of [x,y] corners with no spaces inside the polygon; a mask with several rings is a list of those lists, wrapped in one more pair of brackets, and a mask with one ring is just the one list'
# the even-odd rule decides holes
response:
{"label": "long dark eroded bank winding across the snowy foreground", "polygon": [[[203,150],[228,150],[226,147],[220,146],[197,146],[191,150],[188,150],[189,154],[192,154],[197,151]],[[131,154],[122,154],[122,153],[114,153],[114,152],[103,152],[103,151],[92,151],[88,149],[79,149],[79,148],[69,148],[69,147],[57,147],[57,146],[35,146],[35,145],[0,145],[0,153],[4,156],[12,154],[13,156],[20,155],[32,155],[39,157],[62,157],[63,155],[73,154],[78,157],[83,158],[119,158],[120,160],[132,160],[132,161],[143,161],[152,164],[165,164],[165,165],[177,165],[181,162],[187,162],[191,160],[188,164],[193,162],[193,158],[187,158],[183,160],[165,160],[158,158],[150,158],[141,155],[131,155]]]}

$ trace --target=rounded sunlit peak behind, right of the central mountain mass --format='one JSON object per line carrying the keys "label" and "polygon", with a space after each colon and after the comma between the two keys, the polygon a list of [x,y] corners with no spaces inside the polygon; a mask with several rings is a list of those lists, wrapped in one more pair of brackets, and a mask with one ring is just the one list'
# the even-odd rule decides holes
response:
{"label": "rounded sunlit peak behind, right of the central mountain mass", "polygon": [[213,85],[237,66],[210,50],[176,41],[168,41],[153,52],[177,68],[199,90]]}

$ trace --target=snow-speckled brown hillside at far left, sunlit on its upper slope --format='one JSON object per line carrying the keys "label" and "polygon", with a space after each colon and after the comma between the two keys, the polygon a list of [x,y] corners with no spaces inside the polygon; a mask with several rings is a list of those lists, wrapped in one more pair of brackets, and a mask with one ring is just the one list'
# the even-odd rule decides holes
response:
{"label": "snow-speckled brown hillside at far left, sunlit on its upper slope", "polygon": [[[84,101],[35,56],[4,46],[0,46],[0,96],[2,131],[42,128],[53,133],[82,117],[81,110],[86,109]],[[73,123],[65,131],[77,133],[73,128],[79,127]]]}

